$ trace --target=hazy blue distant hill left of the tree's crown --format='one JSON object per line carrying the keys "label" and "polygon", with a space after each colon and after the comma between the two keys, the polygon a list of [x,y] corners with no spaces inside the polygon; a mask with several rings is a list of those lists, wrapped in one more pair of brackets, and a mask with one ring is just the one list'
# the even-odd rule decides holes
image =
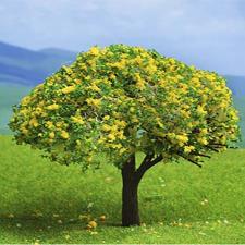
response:
{"label": "hazy blue distant hill left of the tree's crown", "polygon": [[0,83],[34,86],[75,57],[75,52],[62,49],[34,51],[0,42]]}

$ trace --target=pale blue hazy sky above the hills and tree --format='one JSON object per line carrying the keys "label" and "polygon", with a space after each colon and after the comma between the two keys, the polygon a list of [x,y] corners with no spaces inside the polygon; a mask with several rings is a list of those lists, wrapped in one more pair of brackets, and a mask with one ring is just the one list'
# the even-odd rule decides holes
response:
{"label": "pale blue hazy sky above the hills and tree", "polygon": [[0,0],[0,41],[76,52],[143,46],[245,75],[245,0]]}

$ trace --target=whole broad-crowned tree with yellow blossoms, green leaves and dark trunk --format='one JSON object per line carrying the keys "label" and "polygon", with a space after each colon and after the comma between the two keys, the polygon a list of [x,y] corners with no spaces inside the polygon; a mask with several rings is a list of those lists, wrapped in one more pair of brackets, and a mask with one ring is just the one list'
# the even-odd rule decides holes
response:
{"label": "whole broad-crowned tree with yellow blossoms, green leaves and dark trunk", "polygon": [[[223,77],[155,50],[93,47],[35,87],[14,107],[17,144],[62,164],[121,169],[122,224],[139,224],[137,189],[157,163],[184,158],[199,166],[238,136]],[[135,154],[145,158],[137,168]]]}

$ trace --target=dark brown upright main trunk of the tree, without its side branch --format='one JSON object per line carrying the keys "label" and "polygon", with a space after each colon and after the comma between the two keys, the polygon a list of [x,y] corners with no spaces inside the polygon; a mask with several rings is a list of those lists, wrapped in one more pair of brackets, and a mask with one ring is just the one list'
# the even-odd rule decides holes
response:
{"label": "dark brown upright main trunk of the tree, without its side branch", "polygon": [[135,156],[132,156],[122,168],[122,225],[139,225],[138,181],[135,174]]}

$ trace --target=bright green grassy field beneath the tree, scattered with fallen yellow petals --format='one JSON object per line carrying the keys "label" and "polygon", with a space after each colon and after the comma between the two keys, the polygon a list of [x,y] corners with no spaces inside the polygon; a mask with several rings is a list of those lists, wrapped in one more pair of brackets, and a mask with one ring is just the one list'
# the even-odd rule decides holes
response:
{"label": "bright green grassy field beneath the tree, scattered with fallen yellow petals", "polygon": [[[157,166],[139,188],[140,228],[121,228],[121,176],[81,173],[0,136],[0,243],[245,243],[245,150],[199,169]],[[105,222],[99,217],[106,215]],[[95,230],[86,230],[89,220]]]}

